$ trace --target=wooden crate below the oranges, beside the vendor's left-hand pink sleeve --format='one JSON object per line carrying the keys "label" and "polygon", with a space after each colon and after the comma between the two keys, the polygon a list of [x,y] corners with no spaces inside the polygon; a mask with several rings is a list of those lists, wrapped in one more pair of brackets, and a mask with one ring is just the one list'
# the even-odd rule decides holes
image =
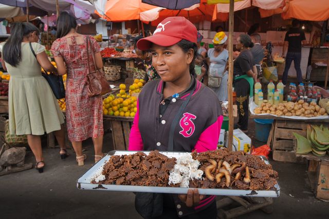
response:
{"label": "wooden crate below the oranges, beside the vendor's left-hand pink sleeve", "polygon": [[111,125],[114,150],[128,150],[130,129],[134,118],[104,115],[103,119],[104,124]]}

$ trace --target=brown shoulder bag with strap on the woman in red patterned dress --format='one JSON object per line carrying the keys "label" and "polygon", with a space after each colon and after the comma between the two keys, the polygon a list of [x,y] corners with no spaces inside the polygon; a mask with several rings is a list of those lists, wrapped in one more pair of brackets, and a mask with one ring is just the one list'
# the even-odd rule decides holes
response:
{"label": "brown shoulder bag with strap on the woman in red patterned dress", "polygon": [[[92,48],[92,56],[93,56],[93,62],[95,66],[95,71],[92,71],[90,69],[90,63],[89,63],[89,44]],[[111,91],[111,88],[109,88],[109,83],[106,81],[106,78],[99,69],[96,67],[95,63],[95,56],[94,56],[94,49],[91,46],[92,43],[90,42],[89,36],[87,36],[87,55],[88,55],[88,74],[87,74],[87,83],[88,83],[88,96],[99,96],[104,95]]]}

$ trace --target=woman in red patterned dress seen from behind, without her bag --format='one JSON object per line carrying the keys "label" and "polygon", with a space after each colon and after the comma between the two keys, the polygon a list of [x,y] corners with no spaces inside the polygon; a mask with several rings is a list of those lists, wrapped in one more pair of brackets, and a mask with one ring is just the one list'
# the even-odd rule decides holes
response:
{"label": "woman in red patterned dress seen from behind, without her bag", "polygon": [[[90,68],[103,67],[100,48],[91,36],[78,34],[77,22],[67,12],[62,12],[57,21],[57,40],[53,42],[51,52],[57,64],[58,73],[67,73],[66,79],[66,123],[68,138],[72,142],[79,166],[84,165],[86,155],[82,153],[82,141],[93,138],[95,163],[102,157],[103,112],[102,97],[89,97],[87,90],[88,59]],[[89,54],[86,40],[90,38]]]}

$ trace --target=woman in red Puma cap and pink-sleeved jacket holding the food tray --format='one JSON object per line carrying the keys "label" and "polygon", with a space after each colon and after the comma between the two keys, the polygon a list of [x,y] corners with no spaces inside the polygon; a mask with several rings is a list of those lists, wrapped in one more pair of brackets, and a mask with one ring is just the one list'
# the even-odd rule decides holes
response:
{"label": "woman in red Puma cap and pink-sleeved jacket holding the food tray", "polygon": [[[222,109],[215,93],[195,79],[197,31],[185,17],[168,17],[137,47],[149,50],[160,75],[138,97],[129,150],[203,152],[217,148]],[[144,218],[216,218],[215,196],[137,193]]]}

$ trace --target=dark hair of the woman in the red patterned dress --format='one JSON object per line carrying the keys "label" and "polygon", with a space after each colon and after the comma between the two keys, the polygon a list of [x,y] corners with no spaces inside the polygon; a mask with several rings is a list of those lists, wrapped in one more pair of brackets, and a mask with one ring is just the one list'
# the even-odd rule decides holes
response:
{"label": "dark hair of the woman in the red patterned dress", "polygon": [[77,27],[77,21],[74,16],[71,16],[66,11],[60,13],[57,19],[57,33],[56,38],[61,38],[68,34],[72,28]]}

